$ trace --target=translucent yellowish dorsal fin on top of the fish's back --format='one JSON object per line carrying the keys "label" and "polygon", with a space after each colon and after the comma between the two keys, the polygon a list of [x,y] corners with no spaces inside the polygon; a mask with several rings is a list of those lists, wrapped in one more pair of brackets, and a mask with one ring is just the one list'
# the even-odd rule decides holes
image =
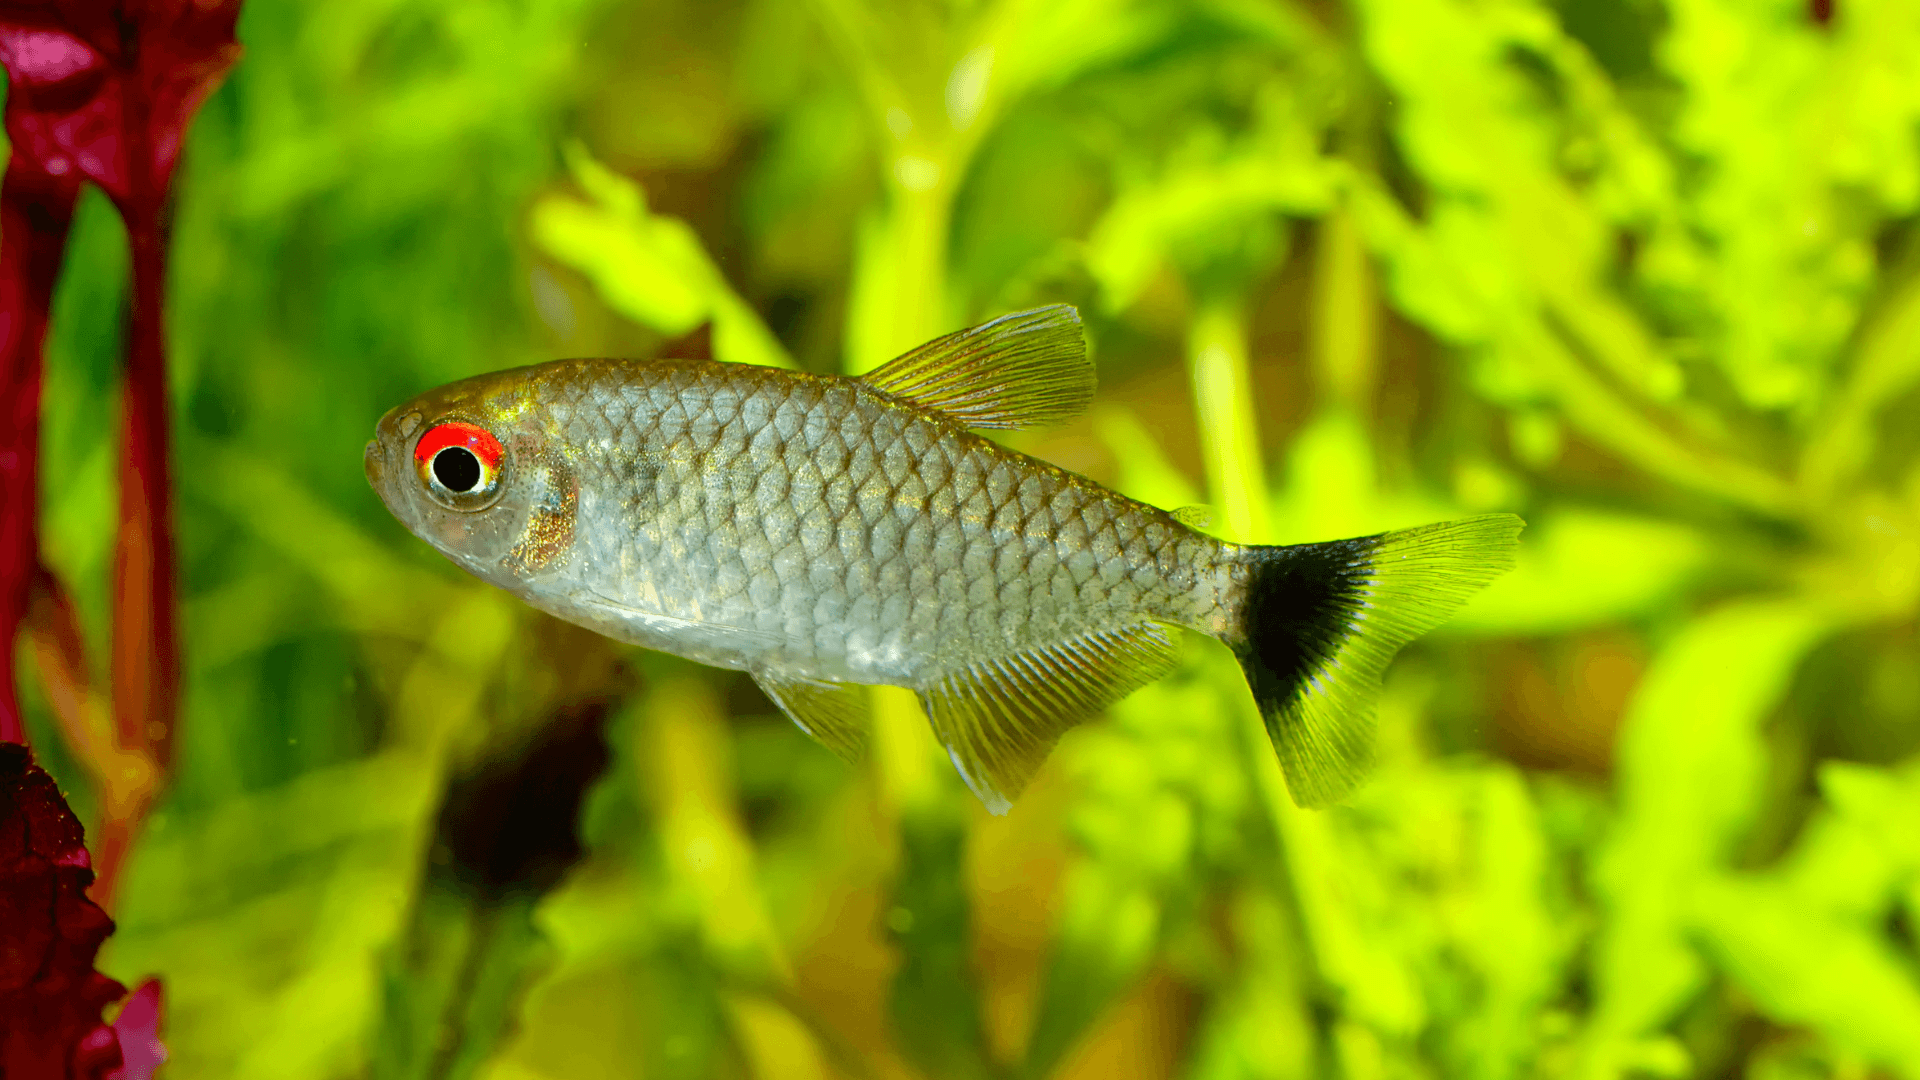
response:
{"label": "translucent yellowish dorsal fin on top of the fish's back", "polygon": [[862,379],[966,427],[1043,427],[1073,419],[1092,402],[1087,338],[1069,304],[933,338]]}

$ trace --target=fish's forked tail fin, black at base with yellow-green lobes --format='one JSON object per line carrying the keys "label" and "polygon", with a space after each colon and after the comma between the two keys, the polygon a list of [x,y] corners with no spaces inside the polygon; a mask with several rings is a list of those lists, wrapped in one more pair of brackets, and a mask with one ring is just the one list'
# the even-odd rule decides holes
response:
{"label": "fish's forked tail fin, black at base with yellow-green lobes", "polygon": [[1346,798],[1373,763],[1373,705],[1400,646],[1513,567],[1511,513],[1400,532],[1242,548],[1246,601],[1227,644],[1304,807]]}

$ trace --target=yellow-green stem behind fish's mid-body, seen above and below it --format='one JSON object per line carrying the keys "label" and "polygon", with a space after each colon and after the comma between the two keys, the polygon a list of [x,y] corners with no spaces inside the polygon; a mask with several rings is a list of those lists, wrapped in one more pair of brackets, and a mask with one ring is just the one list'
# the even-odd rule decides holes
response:
{"label": "yellow-green stem behind fish's mid-body, seen above and below it", "polygon": [[[876,19],[868,6],[812,6],[860,86],[885,192],[860,223],[849,286],[845,369],[862,375],[954,329],[960,311],[947,277],[954,194],[991,125],[979,115],[952,119],[943,73],[925,65],[950,44],[937,40],[937,19],[914,12],[887,35],[889,19]],[[908,38],[920,38],[914,44],[925,52]],[[952,798],[958,774],[908,690],[874,686],[868,694],[876,801],[891,840],[887,934],[900,955],[887,988],[889,1026],[927,1076],[993,1076],[964,944],[972,903],[960,867],[970,817]]]}

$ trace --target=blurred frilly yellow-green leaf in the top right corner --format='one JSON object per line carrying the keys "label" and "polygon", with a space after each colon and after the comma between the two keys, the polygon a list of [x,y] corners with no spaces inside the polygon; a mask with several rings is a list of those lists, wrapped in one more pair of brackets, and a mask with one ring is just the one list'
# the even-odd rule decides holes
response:
{"label": "blurred frilly yellow-green leaf in the top right corner", "polygon": [[1688,223],[1713,258],[1661,284],[1697,290],[1693,323],[1716,327],[1751,404],[1786,407],[1839,357],[1878,223],[1920,200],[1920,19],[1866,4],[1830,33],[1784,0],[1676,0],[1668,27],[1659,56],[1686,88],[1674,138],[1703,165]]}

